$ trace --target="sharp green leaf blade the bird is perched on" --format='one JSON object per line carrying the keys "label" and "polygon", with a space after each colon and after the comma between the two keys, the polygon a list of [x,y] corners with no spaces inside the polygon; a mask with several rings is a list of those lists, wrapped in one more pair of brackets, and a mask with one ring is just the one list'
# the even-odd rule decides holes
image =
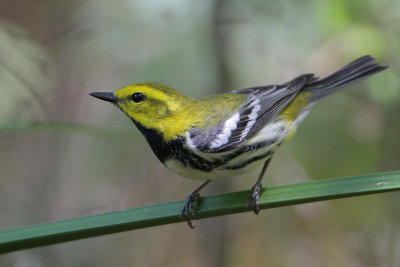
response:
{"label": "sharp green leaf blade the bird is perched on", "polygon": [[[267,209],[395,190],[400,190],[400,171],[264,188],[259,203],[262,209]],[[248,195],[247,190],[201,197],[196,207],[198,218],[248,211],[244,207]],[[0,232],[0,253],[181,222],[179,214],[184,202],[160,203],[5,230]]]}

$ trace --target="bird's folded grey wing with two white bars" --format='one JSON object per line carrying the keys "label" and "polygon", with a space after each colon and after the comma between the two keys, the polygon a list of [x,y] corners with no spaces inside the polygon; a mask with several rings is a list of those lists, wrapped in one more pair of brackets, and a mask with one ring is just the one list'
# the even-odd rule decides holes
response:
{"label": "bird's folded grey wing with two white bars", "polygon": [[304,74],[281,85],[232,91],[247,96],[247,101],[239,111],[209,131],[193,129],[189,134],[189,144],[207,153],[225,152],[239,147],[274,119],[306,84],[316,79],[314,74]]}

